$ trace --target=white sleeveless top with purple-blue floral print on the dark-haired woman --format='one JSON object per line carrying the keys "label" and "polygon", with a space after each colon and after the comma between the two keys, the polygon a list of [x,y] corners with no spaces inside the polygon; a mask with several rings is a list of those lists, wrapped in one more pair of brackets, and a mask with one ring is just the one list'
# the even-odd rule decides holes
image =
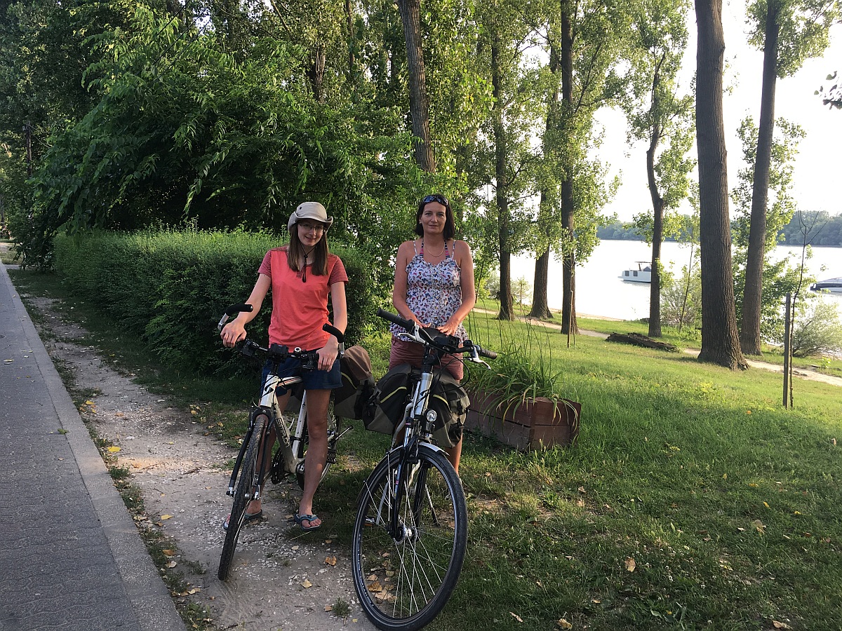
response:
{"label": "white sleeveless top with purple-blue floral print on the dark-haired woman", "polygon": [[[413,243],[414,247],[414,243]],[[456,259],[450,256],[445,243],[445,258],[437,263],[424,261],[424,241],[421,251],[407,264],[407,305],[418,316],[418,320],[433,326],[442,326],[450,320],[462,304],[461,269]],[[402,326],[389,327],[393,336],[404,331]],[[461,342],[467,339],[465,327],[459,325],[456,337]]]}

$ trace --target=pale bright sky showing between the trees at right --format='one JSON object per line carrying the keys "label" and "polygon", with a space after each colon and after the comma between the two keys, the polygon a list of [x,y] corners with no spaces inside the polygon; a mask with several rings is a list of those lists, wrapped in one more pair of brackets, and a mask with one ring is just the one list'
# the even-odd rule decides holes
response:
{"label": "pale bright sky showing between the trees at right", "polygon": [[[689,86],[695,72],[696,24],[690,11],[690,44],[684,60],[683,84]],[[755,125],[760,117],[760,86],[763,53],[749,45],[749,28],[745,24],[745,3],[731,0],[722,6],[722,28],[725,33],[727,70],[723,85],[732,87],[722,98],[727,147],[728,188],[737,183],[737,172],[744,167],[742,145],[737,136],[740,121],[748,114]],[[842,24],[830,30],[830,46],[822,58],[809,59],[794,76],[779,78],[775,88],[775,118],[785,118],[801,125],[806,137],[798,146],[793,176],[793,197],[801,210],[825,210],[831,215],[842,213],[839,179],[842,166],[838,161],[842,146],[842,110],[829,109],[813,94],[831,72],[842,72]],[[621,177],[616,197],[605,213],[616,213],[617,219],[630,221],[637,213],[652,211],[646,182],[646,146],[626,144],[626,120],[618,109],[601,109],[596,116],[605,128],[605,141],[599,156],[610,164],[609,175]],[[695,153],[695,146],[693,149]],[[694,156],[695,157],[695,156]],[[835,158],[835,159],[834,159]],[[695,174],[694,174],[695,177]],[[683,212],[690,212],[689,204]],[[732,208],[733,216],[733,208]]]}

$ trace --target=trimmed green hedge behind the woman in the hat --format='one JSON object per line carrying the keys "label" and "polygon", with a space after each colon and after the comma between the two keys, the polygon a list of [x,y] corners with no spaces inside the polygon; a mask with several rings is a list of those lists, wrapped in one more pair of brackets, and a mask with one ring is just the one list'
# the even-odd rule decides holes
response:
{"label": "trimmed green hedge behind the woman in the hat", "polygon": [[[141,338],[163,361],[195,371],[227,371],[240,362],[216,331],[222,310],[243,302],[277,236],[245,232],[98,232],[56,237],[56,272],[99,309]],[[348,271],[346,344],[360,342],[376,310],[370,262],[360,252],[331,248]],[[248,327],[265,342],[270,296]]]}

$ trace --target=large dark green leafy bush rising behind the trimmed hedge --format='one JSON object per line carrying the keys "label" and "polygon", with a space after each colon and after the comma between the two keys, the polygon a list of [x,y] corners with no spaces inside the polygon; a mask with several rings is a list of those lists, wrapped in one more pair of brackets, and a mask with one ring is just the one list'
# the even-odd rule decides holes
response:
{"label": "large dark green leafy bush rising behind the trimmed hedge", "polygon": [[51,139],[35,172],[24,264],[49,265],[60,231],[185,218],[280,231],[316,199],[337,220],[334,238],[386,270],[428,179],[399,111],[345,93],[314,100],[309,53],[295,45],[255,39],[239,59],[212,34],[184,37],[178,20],[132,11],[128,27],[88,42],[85,80],[99,102]]}

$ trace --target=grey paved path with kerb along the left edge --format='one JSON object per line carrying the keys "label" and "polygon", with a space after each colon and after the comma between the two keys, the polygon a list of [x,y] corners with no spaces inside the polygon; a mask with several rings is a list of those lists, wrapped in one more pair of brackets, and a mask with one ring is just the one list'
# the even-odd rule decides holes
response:
{"label": "grey paved path with kerb along the left edge", "polygon": [[0,265],[0,631],[184,631]]}

